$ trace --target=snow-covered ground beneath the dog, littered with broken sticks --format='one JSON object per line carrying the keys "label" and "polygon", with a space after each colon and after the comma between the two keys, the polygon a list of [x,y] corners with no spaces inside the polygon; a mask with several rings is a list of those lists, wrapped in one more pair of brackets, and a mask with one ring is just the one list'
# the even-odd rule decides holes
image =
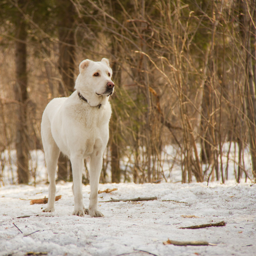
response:
{"label": "snow-covered ground beneath the dog, littered with broken sticks", "polygon": [[[154,201],[99,203],[102,218],[70,215],[74,202],[71,185],[57,184],[56,195],[62,198],[53,213],[42,212],[42,204],[20,199],[47,197],[47,185],[1,187],[0,255],[256,255],[255,184],[232,180],[225,185],[211,182],[208,187],[206,182],[100,184],[100,190],[118,190],[99,194],[99,201],[157,196]],[[89,191],[90,186],[83,185],[85,205],[89,204]],[[34,216],[17,218],[25,215]],[[227,222],[225,227],[179,229],[222,220]],[[164,245],[168,238],[216,245]]]}

